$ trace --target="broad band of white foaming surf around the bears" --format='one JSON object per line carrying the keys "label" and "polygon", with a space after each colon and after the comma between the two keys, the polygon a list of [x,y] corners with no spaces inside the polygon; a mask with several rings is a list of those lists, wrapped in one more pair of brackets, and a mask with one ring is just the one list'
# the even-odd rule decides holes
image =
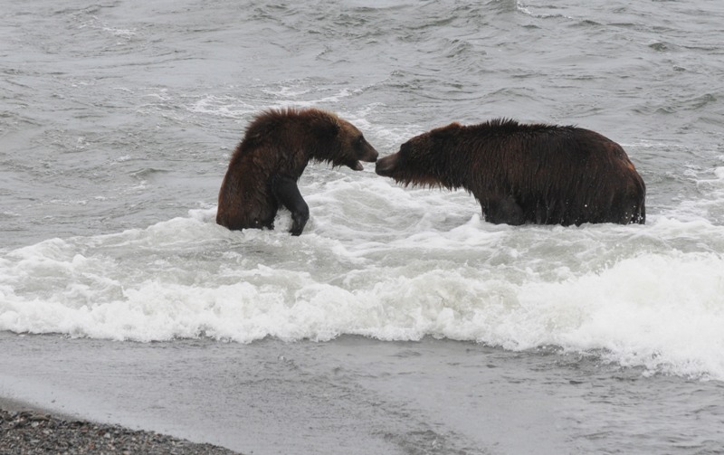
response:
{"label": "broad band of white foaming surf around the bears", "polygon": [[287,213],[277,231],[228,232],[212,209],[7,251],[0,329],[243,343],[432,336],[724,378],[720,225],[654,215],[644,226],[495,226],[464,192],[403,189],[369,171],[308,174],[312,218],[299,238],[284,232]]}

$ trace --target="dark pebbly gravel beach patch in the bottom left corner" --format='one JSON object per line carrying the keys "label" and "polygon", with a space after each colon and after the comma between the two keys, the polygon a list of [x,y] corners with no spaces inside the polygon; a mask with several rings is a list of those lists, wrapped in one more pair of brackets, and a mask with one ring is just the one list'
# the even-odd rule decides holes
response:
{"label": "dark pebbly gravel beach patch in the bottom left corner", "polygon": [[36,410],[0,408],[0,453],[232,455],[237,452],[154,431],[82,422]]}

